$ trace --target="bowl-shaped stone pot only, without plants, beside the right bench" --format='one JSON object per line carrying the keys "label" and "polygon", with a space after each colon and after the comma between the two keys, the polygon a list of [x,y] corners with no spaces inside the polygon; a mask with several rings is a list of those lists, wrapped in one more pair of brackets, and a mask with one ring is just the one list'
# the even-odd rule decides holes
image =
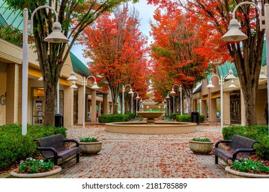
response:
{"label": "bowl-shaped stone pot only, without plants, beside the right bench", "polygon": [[213,149],[214,142],[189,141],[189,147],[193,153],[208,154]]}

